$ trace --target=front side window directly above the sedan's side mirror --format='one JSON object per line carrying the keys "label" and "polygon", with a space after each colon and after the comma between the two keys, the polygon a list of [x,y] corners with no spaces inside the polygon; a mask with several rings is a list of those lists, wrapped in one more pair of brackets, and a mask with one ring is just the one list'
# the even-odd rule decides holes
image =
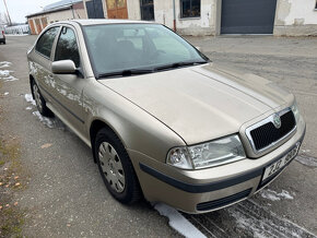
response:
{"label": "front side window directly above the sedan's side mirror", "polygon": [[80,55],[74,32],[69,27],[62,27],[57,41],[55,61],[70,59],[75,67],[80,67]]}

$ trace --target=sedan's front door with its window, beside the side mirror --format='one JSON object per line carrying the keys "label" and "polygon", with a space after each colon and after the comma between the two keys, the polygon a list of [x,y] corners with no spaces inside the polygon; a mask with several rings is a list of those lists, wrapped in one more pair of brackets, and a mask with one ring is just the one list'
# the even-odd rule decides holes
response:
{"label": "sedan's front door with its window, beside the side mirror", "polygon": [[83,132],[82,92],[85,83],[75,29],[62,26],[57,39],[54,61],[72,60],[78,74],[52,74],[54,94],[60,116],[77,132]]}

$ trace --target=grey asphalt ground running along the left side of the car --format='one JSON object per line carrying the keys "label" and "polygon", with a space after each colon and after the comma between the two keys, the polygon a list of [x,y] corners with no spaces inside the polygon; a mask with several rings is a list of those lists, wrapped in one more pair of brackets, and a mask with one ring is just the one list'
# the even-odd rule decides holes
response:
{"label": "grey asphalt ground running along the left side of the car", "polygon": [[[179,236],[146,202],[125,206],[106,190],[91,150],[58,119],[39,120],[30,94],[26,50],[34,36],[8,37],[0,45],[0,62],[17,81],[2,80],[1,135],[21,141],[22,163],[30,174],[25,190],[16,193],[28,216],[26,237],[172,237]],[[31,109],[30,109],[31,107]],[[26,109],[27,108],[27,109]],[[51,145],[50,145],[51,144]],[[49,146],[42,148],[43,145]]]}

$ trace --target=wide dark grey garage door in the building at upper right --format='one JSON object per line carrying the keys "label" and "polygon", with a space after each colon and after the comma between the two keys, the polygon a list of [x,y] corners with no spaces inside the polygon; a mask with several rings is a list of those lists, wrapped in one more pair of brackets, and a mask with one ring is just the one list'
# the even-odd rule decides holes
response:
{"label": "wide dark grey garage door in the building at upper right", "polygon": [[272,34],[277,0],[222,0],[222,34]]}

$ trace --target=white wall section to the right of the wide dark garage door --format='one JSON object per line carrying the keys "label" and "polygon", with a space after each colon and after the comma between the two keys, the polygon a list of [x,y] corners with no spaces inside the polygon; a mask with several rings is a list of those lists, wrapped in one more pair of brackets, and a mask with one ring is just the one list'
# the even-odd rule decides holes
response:
{"label": "white wall section to the right of the wide dark garage door", "polygon": [[278,0],[274,35],[317,35],[316,0]]}

